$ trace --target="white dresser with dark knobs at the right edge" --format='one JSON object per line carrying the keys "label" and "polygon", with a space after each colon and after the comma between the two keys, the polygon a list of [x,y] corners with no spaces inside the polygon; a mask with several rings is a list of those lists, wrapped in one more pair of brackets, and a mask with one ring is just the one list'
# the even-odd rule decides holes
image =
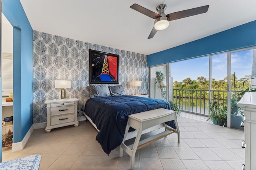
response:
{"label": "white dresser with dark knobs at the right edge", "polygon": [[244,110],[245,166],[242,169],[256,170],[256,92],[246,92],[237,104]]}

